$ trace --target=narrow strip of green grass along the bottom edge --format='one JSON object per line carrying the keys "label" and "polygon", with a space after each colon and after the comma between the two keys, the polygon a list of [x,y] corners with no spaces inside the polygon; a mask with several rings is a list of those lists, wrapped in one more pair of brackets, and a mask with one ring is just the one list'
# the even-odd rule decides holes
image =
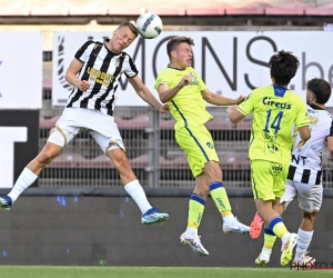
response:
{"label": "narrow strip of green grass along the bottom edge", "polygon": [[7,278],[296,278],[333,277],[332,269],[295,271],[289,268],[189,268],[189,267],[56,267],[0,266]]}

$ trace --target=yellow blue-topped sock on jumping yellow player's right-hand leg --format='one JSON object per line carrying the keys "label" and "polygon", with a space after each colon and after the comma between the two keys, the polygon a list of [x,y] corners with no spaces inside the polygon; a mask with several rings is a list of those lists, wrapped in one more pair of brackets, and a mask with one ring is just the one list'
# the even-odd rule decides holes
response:
{"label": "yellow blue-topped sock on jumping yellow player's right-hand leg", "polygon": [[[210,193],[212,199],[214,200],[220,214],[223,217],[223,220],[233,220],[234,217],[231,212],[231,206],[229,202],[229,198],[223,187],[222,181],[214,181],[210,183]],[[226,217],[230,216],[230,217]]]}

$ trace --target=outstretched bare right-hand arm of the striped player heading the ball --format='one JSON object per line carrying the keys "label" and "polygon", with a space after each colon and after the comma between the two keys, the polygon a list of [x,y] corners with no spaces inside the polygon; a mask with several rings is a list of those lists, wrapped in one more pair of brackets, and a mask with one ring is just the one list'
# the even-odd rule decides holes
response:
{"label": "outstretched bare right-hand arm of the striped player heading the ball", "polygon": [[138,76],[129,78],[129,82],[133,86],[138,96],[147,103],[159,110],[161,113],[169,111],[168,105],[162,105],[159,100],[157,100]]}

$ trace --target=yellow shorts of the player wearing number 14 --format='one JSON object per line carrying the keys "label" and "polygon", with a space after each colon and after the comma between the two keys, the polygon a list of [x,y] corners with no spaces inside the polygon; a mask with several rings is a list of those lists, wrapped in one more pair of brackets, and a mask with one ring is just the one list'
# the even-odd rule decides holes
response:
{"label": "yellow shorts of the player wearing number 14", "polygon": [[266,160],[251,161],[251,182],[255,199],[275,200],[284,193],[289,165]]}

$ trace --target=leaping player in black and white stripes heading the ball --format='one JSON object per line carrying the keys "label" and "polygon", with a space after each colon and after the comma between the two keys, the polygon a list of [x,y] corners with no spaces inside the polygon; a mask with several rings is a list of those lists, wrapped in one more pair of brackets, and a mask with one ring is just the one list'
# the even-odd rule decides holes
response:
{"label": "leaping player in black and white stripes heading the ball", "polygon": [[112,117],[117,101],[119,79],[124,73],[137,93],[160,112],[169,107],[160,103],[138,77],[132,58],[123,52],[138,37],[138,29],[130,22],[120,24],[111,39],[87,41],[75,53],[65,80],[74,88],[62,116],[51,129],[41,152],[23,169],[8,196],[0,198],[0,209],[8,211],[17,198],[34,182],[49,165],[79,132],[89,132],[119,171],[127,192],[142,212],[142,224],[163,222],[168,214],[153,208],[138,181],[125,155],[118,126]]}

